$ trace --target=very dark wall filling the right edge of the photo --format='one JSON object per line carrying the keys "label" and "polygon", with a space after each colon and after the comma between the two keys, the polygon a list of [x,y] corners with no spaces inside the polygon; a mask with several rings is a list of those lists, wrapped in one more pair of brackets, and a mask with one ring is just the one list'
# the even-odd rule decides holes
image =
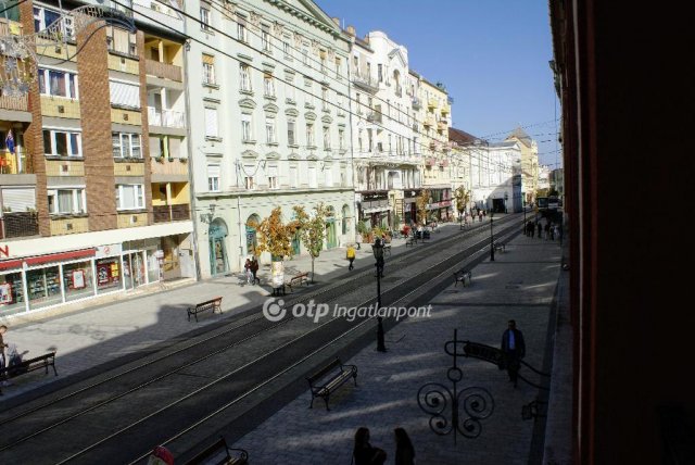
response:
{"label": "very dark wall filling the right edge of the photo", "polygon": [[695,174],[687,148],[695,75],[685,65],[693,29],[668,4],[566,4],[577,13],[563,100],[571,232],[581,246],[571,271],[581,279],[572,300],[577,462],[660,464],[657,410],[677,404],[691,427],[695,418],[684,224]]}

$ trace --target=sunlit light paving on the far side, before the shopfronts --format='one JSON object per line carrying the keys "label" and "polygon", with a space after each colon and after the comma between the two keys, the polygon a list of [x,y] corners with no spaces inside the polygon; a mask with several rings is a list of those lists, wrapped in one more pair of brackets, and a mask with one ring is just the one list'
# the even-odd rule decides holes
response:
{"label": "sunlit light paving on the far side, before the shopfronts", "polygon": [[[458,232],[458,224],[444,224],[440,231],[432,234],[430,242]],[[352,273],[374,266],[371,248],[368,243],[362,246]],[[405,250],[405,241],[394,239],[392,255]],[[316,281],[329,282],[349,275],[348,264],[344,248],[323,251],[314,263]],[[285,266],[286,276],[312,269],[307,255],[292,257],[286,261]],[[90,300],[41,312],[0,316],[0,324],[9,327],[4,336],[7,343],[15,344],[25,359],[56,351],[59,373],[59,377],[54,377],[43,376],[37,370],[14,379],[13,386],[2,390],[0,403],[56,380],[99,369],[109,363],[132,360],[175,338],[187,337],[192,330],[218,325],[225,316],[256,307],[271,293],[267,285],[270,280],[269,266],[262,266],[258,277],[260,286],[247,285],[242,274],[200,282],[182,280],[175,288],[167,285],[165,290],[156,284],[130,293],[109,296],[106,303]],[[216,296],[223,297],[223,316],[206,312],[199,315],[199,322],[188,321],[188,306]]]}

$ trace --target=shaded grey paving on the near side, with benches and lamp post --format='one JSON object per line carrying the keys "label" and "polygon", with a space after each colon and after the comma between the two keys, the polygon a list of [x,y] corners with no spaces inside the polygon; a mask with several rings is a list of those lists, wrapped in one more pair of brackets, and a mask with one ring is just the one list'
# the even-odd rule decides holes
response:
{"label": "shaded grey paving on the near side, with benches and lamp post", "polygon": [[[557,242],[517,237],[505,253],[495,254],[495,262],[472,269],[470,287],[452,285],[434,298],[429,318],[407,319],[389,331],[387,353],[376,352],[375,342],[343,361],[357,365],[358,386],[346,384],[331,397],[330,412],[321,400],[309,410],[307,389],[235,447],[247,449],[256,464],[348,464],[354,432],[366,426],[372,444],[384,449],[387,463],[393,463],[393,429],[400,426],[413,440],[418,464],[527,464],[533,422],[521,418],[521,407],[539,395],[536,388],[519,381],[515,389],[496,366],[459,357],[458,390],[486,389],[494,412],[481,420],[478,438],[459,435],[456,440],[429,428],[431,416],[418,406],[417,393],[428,382],[452,388],[446,374],[453,359],[444,343],[453,339],[454,328],[460,340],[500,347],[507,321],[514,318],[527,341],[526,362],[542,368],[559,274]],[[539,382],[538,375],[521,373]],[[451,420],[451,410],[443,415]]]}

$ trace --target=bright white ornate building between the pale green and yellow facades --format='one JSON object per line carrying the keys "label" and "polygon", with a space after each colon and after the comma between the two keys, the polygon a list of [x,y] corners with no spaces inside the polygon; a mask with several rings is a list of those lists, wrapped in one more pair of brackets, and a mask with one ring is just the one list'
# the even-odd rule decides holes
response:
{"label": "bright white ornate building between the pale green and yellow facades", "polygon": [[419,152],[413,144],[413,97],[408,92],[407,49],[381,32],[364,38],[353,27],[352,99],[357,118],[355,198],[367,227],[400,229],[415,221],[415,197],[420,188]]}

